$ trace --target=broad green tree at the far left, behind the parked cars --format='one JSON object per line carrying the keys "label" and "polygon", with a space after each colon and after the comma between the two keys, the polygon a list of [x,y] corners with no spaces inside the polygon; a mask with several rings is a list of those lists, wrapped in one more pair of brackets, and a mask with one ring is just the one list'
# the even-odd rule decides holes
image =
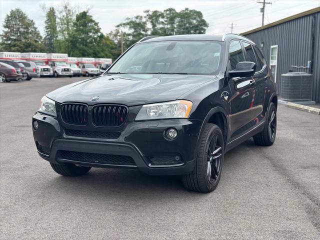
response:
{"label": "broad green tree at the far left, behind the parked cars", "polygon": [[34,21],[19,8],[12,9],[4,18],[1,48],[4,51],[43,50],[42,37]]}

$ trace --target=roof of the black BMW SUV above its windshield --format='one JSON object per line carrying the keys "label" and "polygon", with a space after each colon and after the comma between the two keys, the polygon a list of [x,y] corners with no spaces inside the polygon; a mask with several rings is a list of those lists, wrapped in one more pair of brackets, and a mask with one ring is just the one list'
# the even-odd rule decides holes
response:
{"label": "roof of the black BMW SUV above its windshield", "polygon": [[207,40],[207,41],[224,41],[226,38],[245,39],[252,42],[250,39],[234,34],[187,34],[187,35],[171,35],[171,36],[146,36],[138,42],[153,42],[153,41],[174,41],[174,40]]}

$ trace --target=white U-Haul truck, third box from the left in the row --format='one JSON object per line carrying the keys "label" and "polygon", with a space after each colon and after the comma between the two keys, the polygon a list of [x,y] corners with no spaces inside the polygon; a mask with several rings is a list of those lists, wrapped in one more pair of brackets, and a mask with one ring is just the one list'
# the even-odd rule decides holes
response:
{"label": "white U-Haul truck, third box from the left in the row", "polygon": [[68,54],[66,53],[48,53],[48,62],[52,67],[53,76],[69,76],[72,77],[73,72],[70,66],[66,63]]}

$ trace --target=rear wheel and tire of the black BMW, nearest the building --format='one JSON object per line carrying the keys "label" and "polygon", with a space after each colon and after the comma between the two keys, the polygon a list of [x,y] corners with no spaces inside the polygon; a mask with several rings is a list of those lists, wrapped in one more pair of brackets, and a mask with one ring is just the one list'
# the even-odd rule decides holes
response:
{"label": "rear wheel and tire of the black BMW, nearest the building", "polygon": [[270,103],[267,113],[267,121],[263,130],[253,136],[254,143],[259,146],[270,146],[275,140],[276,133],[276,107],[273,102]]}

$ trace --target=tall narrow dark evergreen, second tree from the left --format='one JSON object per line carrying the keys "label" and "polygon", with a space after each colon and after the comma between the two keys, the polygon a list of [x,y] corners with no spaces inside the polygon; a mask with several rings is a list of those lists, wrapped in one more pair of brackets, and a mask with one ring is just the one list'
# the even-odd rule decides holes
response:
{"label": "tall narrow dark evergreen, second tree from the left", "polygon": [[56,28],[56,14],[53,7],[49,7],[46,12],[45,26],[44,26],[44,45],[47,52],[56,52],[57,28]]}

